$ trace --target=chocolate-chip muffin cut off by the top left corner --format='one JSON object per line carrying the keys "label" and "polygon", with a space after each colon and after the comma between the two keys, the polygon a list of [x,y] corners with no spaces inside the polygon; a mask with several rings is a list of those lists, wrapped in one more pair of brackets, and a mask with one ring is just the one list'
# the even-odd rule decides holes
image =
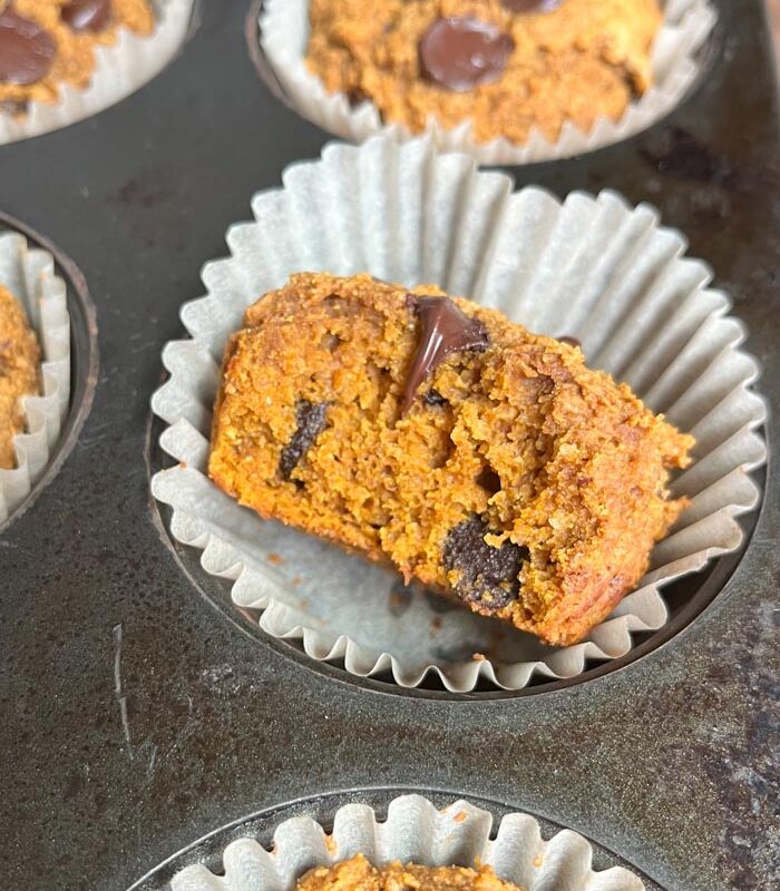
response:
{"label": "chocolate-chip muffin cut off by the top left corner", "polygon": [[154,27],[148,0],[0,0],[0,108],[20,115],[56,102],[65,84],[85,89],[97,47]]}

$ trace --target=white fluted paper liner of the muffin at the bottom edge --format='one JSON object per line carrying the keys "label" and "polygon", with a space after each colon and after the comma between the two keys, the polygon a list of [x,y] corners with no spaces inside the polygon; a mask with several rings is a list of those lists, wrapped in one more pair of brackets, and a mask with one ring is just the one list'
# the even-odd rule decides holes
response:
{"label": "white fluted paper liner of the muffin at the bottom edge", "polygon": [[549,841],[529,814],[507,814],[490,839],[493,816],[468,801],[439,811],[421,795],[390,802],[380,822],[367,804],[347,804],[334,817],[333,833],[306,816],[285,820],[274,832],[271,852],[251,838],[236,839],[223,852],[224,877],[203,864],[186,866],[170,881],[172,891],[294,891],[314,866],[329,866],[364,854],[376,865],[399,860],[427,866],[474,866],[479,860],[499,879],[524,891],[643,891],[638,875],[622,866],[596,872],[593,848],[572,830]]}

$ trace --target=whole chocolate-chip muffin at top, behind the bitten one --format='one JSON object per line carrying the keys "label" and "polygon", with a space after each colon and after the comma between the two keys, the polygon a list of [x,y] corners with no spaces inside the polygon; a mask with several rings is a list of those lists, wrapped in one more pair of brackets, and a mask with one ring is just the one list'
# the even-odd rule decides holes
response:
{"label": "whole chocolate-chip muffin at top, behind the bitten one", "polygon": [[[652,81],[662,14],[657,0],[311,0],[310,21],[306,63],[328,91],[412,133],[469,119],[479,143],[521,144],[534,125],[555,140],[566,120],[617,120]],[[482,39],[448,36],[452,22]],[[467,68],[480,56],[471,88],[458,53]]]}

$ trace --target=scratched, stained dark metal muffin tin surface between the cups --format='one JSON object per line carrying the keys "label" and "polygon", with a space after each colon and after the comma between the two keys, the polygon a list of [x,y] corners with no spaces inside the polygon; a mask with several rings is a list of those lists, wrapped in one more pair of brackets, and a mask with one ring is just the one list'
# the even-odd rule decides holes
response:
{"label": "scratched, stained dark metal muffin tin surface between the cups", "polygon": [[[732,293],[773,400],[780,173],[768,32],[761,0],[718,4],[709,71],[670,119],[517,179],[559,195],[608,185],[656,204]],[[178,307],[201,293],[202,263],[224,253],[225,227],[247,216],[252,192],[326,139],[257,80],[243,43],[247,6],[211,0],[186,51],[142,92],[0,149],[0,207],[76,261],[100,350],[72,452],[0,535],[4,884],[124,891],[232,821],[372,786],[529,810],[666,891],[777,888],[771,467],[747,554],[690,627],[622,670],[534,696],[423,699],[311,670],[284,645],[244,634],[183,572],[148,493],[160,350],[181,334]],[[88,344],[86,331],[81,368]],[[768,432],[773,441],[777,418]],[[335,800],[299,806],[326,816]],[[260,819],[264,838],[277,817]]]}

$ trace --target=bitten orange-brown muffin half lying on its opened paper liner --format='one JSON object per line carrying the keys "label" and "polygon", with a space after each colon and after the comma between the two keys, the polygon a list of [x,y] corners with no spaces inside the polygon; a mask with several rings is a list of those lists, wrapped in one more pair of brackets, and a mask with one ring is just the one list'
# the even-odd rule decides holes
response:
{"label": "bitten orange-brown muffin half lying on its opened paper liner", "polygon": [[[464,320],[459,339],[437,304]],[[576,346],[494,310],[301,273],[244,323],[225,353],[212,479],[550,644],[612,611],[684,506],[665,483],[692,439]]]}

